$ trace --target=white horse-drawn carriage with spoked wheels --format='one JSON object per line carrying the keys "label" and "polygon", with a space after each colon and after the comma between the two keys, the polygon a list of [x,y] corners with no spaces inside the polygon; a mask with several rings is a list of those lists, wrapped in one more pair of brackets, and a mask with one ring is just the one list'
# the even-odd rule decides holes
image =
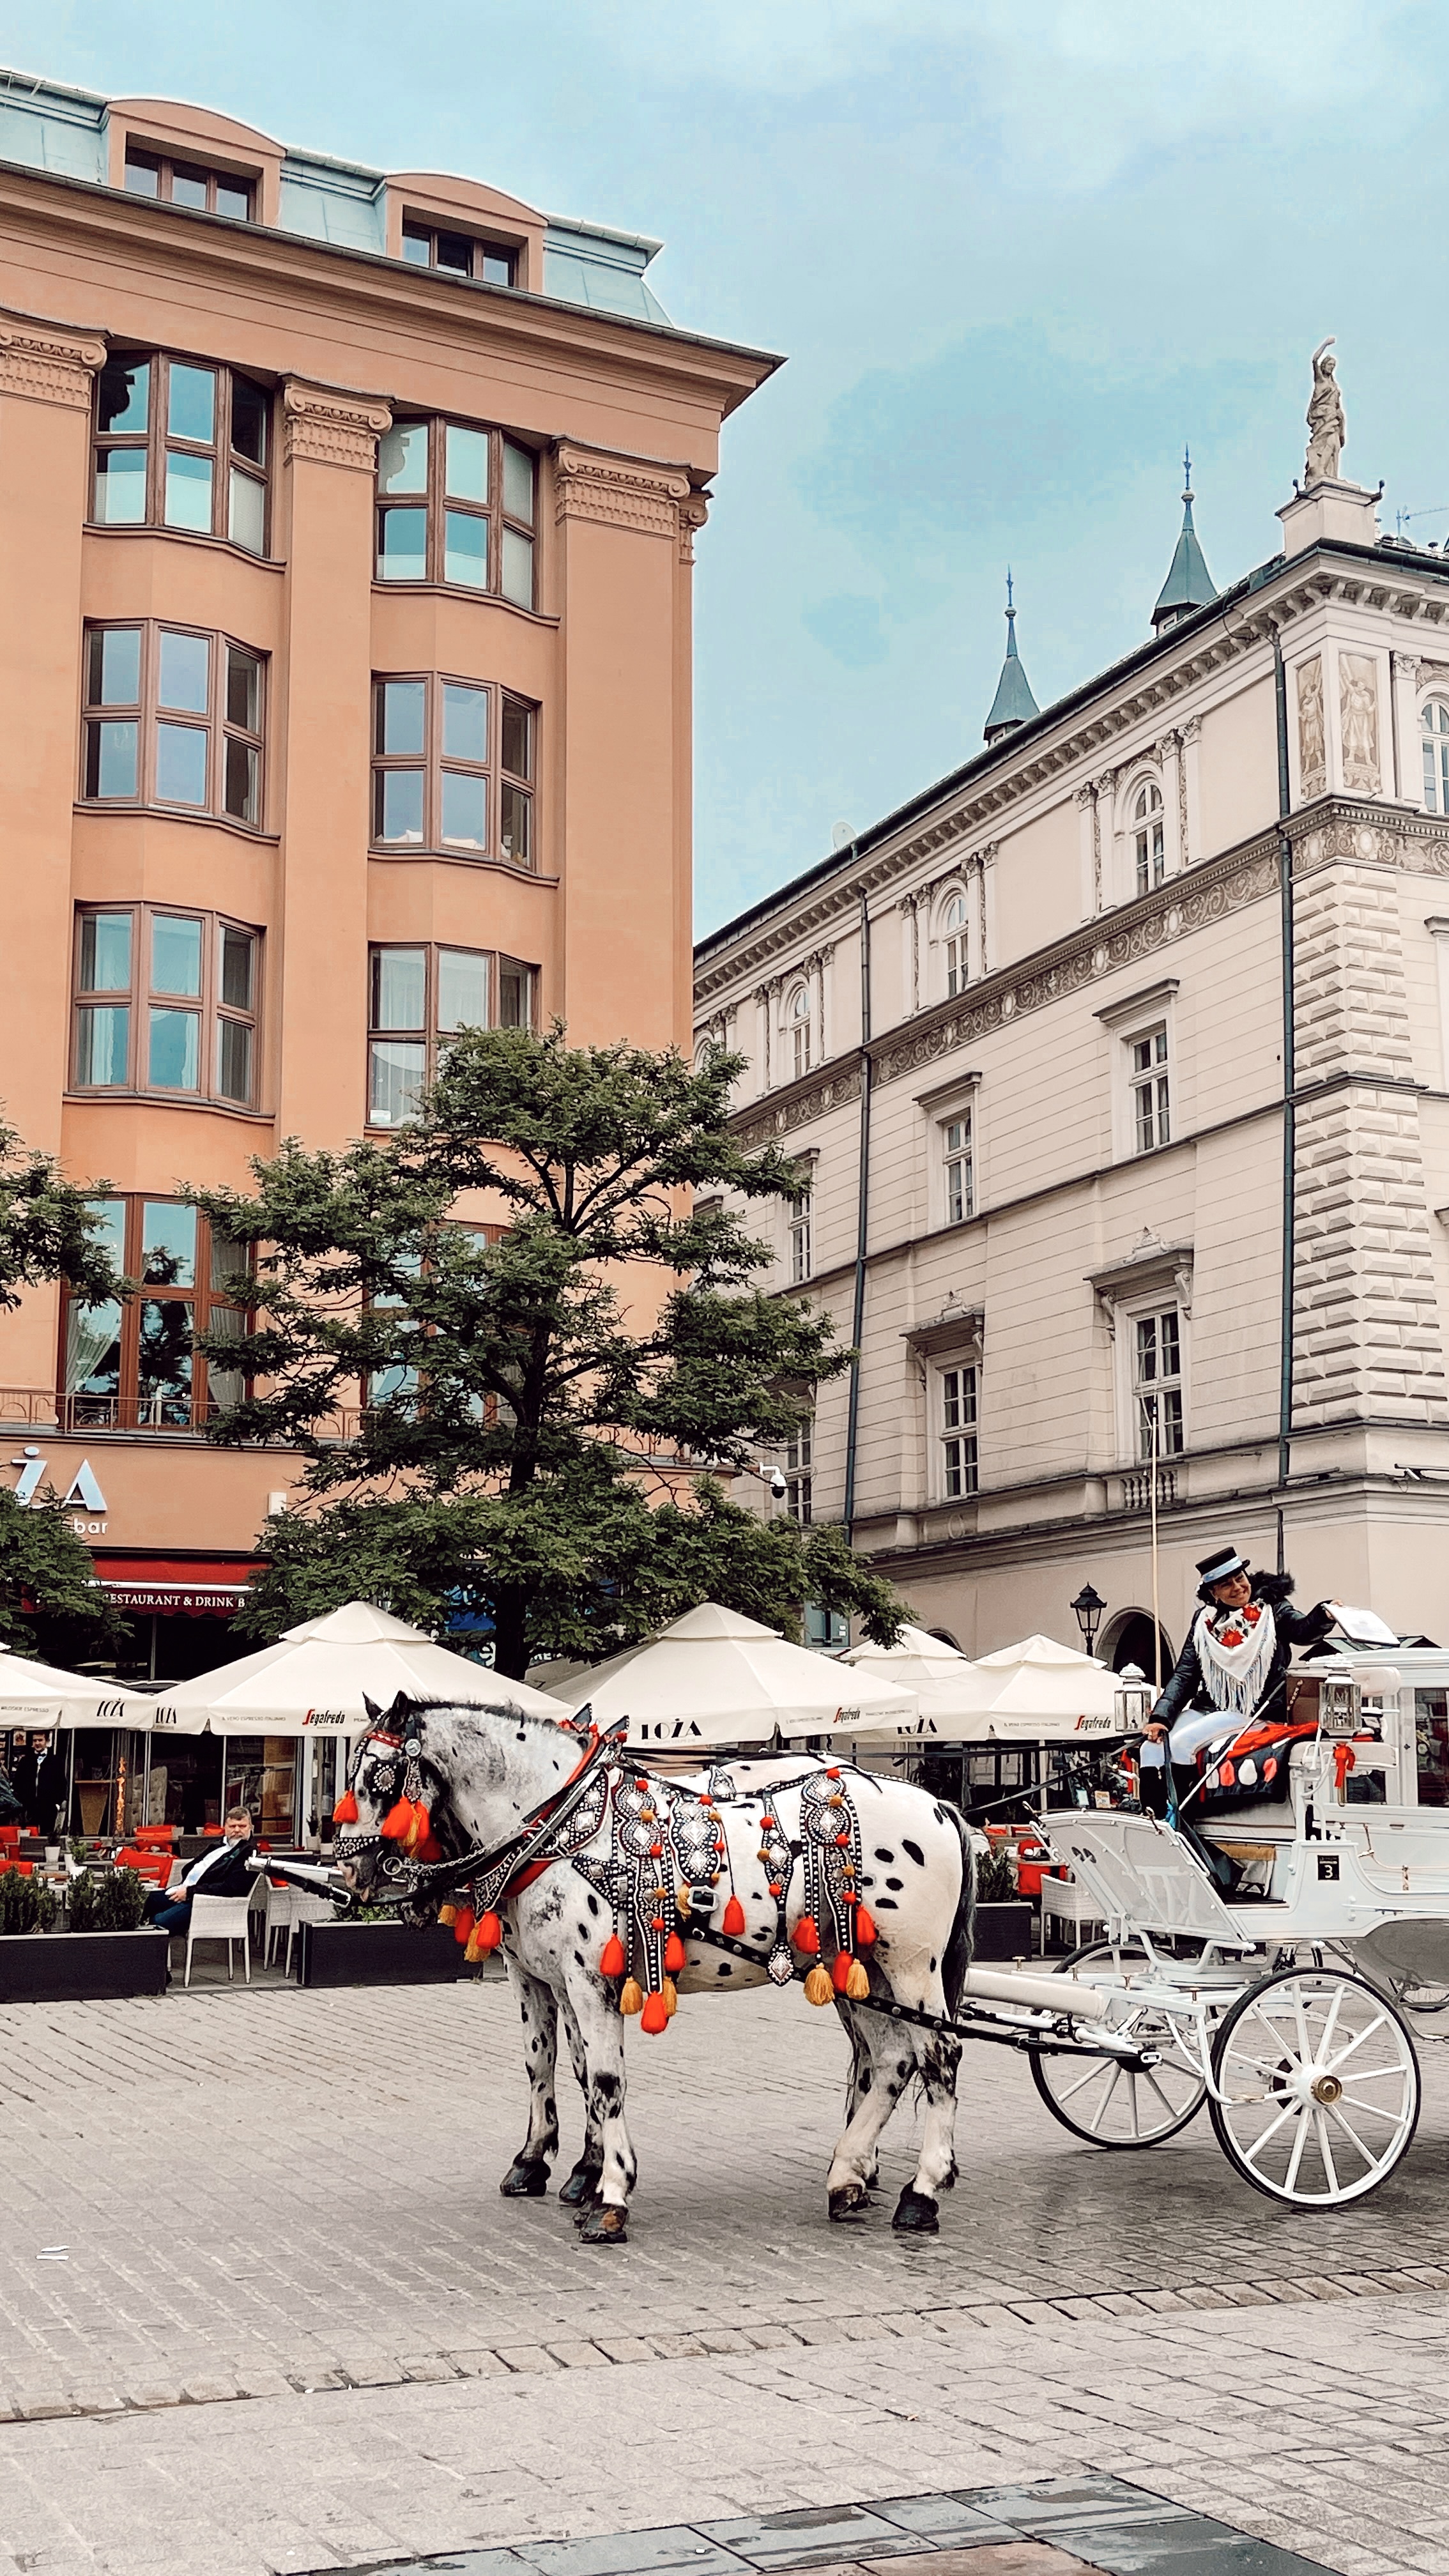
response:
{"label": "white horse-drawn carriage with spoked wheels", "polygon": [[1238,1862],[1232,1899],[1155,1816],[1049,1811],[1101,1937],[1055,1973],[972,1968],[962,2022],[1013,2035],[1091,2146],[1158,2146],[1207,2105],[1245,2182],[1336,2208],[1413,2141],[1410,2022],[1449,2032],[1449,1656],[1397,1649],[1385,1672],[1336,1654],[1294,1685],[1318,1731],[1292,1747],[1287,1795],[1201,1816]]}

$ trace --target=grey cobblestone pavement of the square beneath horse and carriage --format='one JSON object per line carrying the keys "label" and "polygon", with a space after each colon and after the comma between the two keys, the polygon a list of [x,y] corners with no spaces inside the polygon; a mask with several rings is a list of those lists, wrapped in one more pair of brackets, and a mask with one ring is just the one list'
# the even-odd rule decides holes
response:
{"label": "grey cobblestone pavement of the square beneath horse and carriage", "polygon": [[500,1984],[0,2007],[0,2576],[273,2576],[1080,2470],[1343,2576],[1449,2576],[1449,2050],[1421,2056],[1400,2174],[1310,2218],[1207,2123],[1098,2156],[967,2050],[941,2236],[895,2239],[905,2115],[879,2208],[825,2223],[835,2017],[686,1999],[632,2043],[632,2241],[583,2249],[557,2200],[498,2197]]}

